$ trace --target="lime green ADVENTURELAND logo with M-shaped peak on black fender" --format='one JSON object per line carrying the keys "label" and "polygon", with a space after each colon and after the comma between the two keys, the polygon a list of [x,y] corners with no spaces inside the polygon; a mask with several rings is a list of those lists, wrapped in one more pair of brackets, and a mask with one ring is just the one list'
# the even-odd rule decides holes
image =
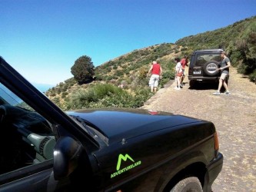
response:
{"label": "lime green ADVENTURELAND logo with M-shaped peak on black fender", "polygon": [[[133,163],[131,164],[131,165],[129,165],[128,167],[125,167],[125,168],[122,168],[122,169],[120,169],[120,167],[121,167],[121,162],[122,161],[127,161],[127,160],[130,160],[130,161],[132,161]],[[123,155],[123,154],[119,154],[119,156],[118,156],[118,164],[116,165],[116,172],[115,173],[113,173],[113,174],[111,174],[111,178],[113,178],[113,177],[115,177],[115,176],[118,176],[119,174],[122,174],[122,173],[124,173],[125,171],[127,171],[127,170],[131,170],[132,168],[134,168],[134,167],[136,167],[136,166],[138,166],[138,165],[140,165],[141,164],[141,161],[138,161],[138,162],[135,162],[131,157],[130,157],[130,155],[128,155],[128,154],[125,154],[125,156]]]}

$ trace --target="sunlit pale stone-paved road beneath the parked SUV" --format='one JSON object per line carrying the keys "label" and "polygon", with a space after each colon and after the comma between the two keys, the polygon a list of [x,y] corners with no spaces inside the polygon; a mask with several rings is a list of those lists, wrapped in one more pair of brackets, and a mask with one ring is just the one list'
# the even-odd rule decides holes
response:
{"label": "sunlit pale stone-paved road beneath the parked SUV", "polygon": [[176,91],[170,81],[141,108],[212,121],[224,155],[221,174],[212,190],[256,191],[256,84],[235,68],[230,71],[229,95],[213,95],[215,87],[189,89],[185,78],[181,91]]}

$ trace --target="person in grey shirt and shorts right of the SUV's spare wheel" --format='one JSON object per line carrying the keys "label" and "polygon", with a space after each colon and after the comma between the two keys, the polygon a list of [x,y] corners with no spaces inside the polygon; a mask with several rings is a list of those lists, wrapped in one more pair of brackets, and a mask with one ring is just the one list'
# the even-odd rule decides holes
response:
{"label": "person in grey shirt and shorts right of the SUV's spare wheel", "polygon": [[230,62],[229,58],[227,57],[227,54],[225,51],[221,51],[221,58],[222,58],[221,68],[217,69],[217,70],[221,70],[221,77],[218,81],[218,90],[213,93],[214,95],[221,94],[222,85],[226,89],[225,94],[230,94],[228,91],[228,84],[226,83],[225,80],[227,78],[227,75],[229,74],[229,68],[231,66],[231,62]]}

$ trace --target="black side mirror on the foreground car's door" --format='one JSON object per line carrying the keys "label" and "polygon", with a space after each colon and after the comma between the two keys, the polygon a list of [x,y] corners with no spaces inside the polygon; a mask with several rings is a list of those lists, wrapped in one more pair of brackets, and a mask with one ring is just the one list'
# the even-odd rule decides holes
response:
{"label": "black side mirror on the foreground car's door", "polygon": [[60,137],[53,152],[53,172],[55,180],[68,177],[78,166],[82,145],[71,137]]}

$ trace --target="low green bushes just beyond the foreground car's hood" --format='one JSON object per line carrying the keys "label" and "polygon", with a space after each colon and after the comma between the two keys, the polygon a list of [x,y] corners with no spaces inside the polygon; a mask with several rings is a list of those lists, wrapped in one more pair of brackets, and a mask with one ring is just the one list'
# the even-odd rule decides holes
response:
{"label": "low green bushes just beyond the foreground car's hood", "polygon": [[[87,89],[78,88],[62,105],[65,110],[82,108],[139,108],[149,98],[148,89],[136,89],[129,94],[113,84],[91,84]],[[58,102],[59,104],[59,102]]]}

